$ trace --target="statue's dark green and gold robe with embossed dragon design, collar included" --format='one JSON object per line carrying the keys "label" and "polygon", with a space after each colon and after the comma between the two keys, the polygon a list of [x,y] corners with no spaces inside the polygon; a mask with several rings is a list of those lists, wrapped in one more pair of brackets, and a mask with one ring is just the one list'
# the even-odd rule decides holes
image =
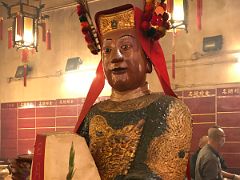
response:
{"label": "statue's dark green and gold robe with embossed dragon design, collar included", "polygon": [[85,137],[103,180],[185,177],[192,119],[179,99],[153,93],[99,102],[78,134]]}

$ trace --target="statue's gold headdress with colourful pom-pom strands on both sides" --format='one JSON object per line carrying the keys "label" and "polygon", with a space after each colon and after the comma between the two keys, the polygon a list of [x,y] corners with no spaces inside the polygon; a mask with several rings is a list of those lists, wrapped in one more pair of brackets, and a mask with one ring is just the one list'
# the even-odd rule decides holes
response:
{"label": "statue's gold headdress with colourful pom-pom strands on both sides", "polygon": [[[141,25],[137,28],[141,29],[144,36],[154,41],[163,37],[170,28],[164,1],[145,0],[144,11],[141,17],[138,17]],[[95,16],[97,28],[93,25],[87,0],[78,1],[77,12],[88,48],[93,54],[100,51],[99,36],[113,30],[133,28],[136,24],[135,7],[130,4],[98,12]]]}

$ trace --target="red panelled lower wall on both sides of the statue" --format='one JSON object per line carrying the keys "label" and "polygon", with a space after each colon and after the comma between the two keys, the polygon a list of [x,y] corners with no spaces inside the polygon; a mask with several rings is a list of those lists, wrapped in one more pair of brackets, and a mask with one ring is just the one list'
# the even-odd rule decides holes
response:
{"label": "red panelled lower wall on both sides of the statue", "polygon": [[[209,127],[220,125],[227,135],[223,157],[231,171],[240,173],[240,86],[176,93],[192,113],[191,151],[197,149],[199,138],[207,135]],[[1,158],[33,152],[37,133],[72,131],[83,101],[78,98],[1,104]]]}

